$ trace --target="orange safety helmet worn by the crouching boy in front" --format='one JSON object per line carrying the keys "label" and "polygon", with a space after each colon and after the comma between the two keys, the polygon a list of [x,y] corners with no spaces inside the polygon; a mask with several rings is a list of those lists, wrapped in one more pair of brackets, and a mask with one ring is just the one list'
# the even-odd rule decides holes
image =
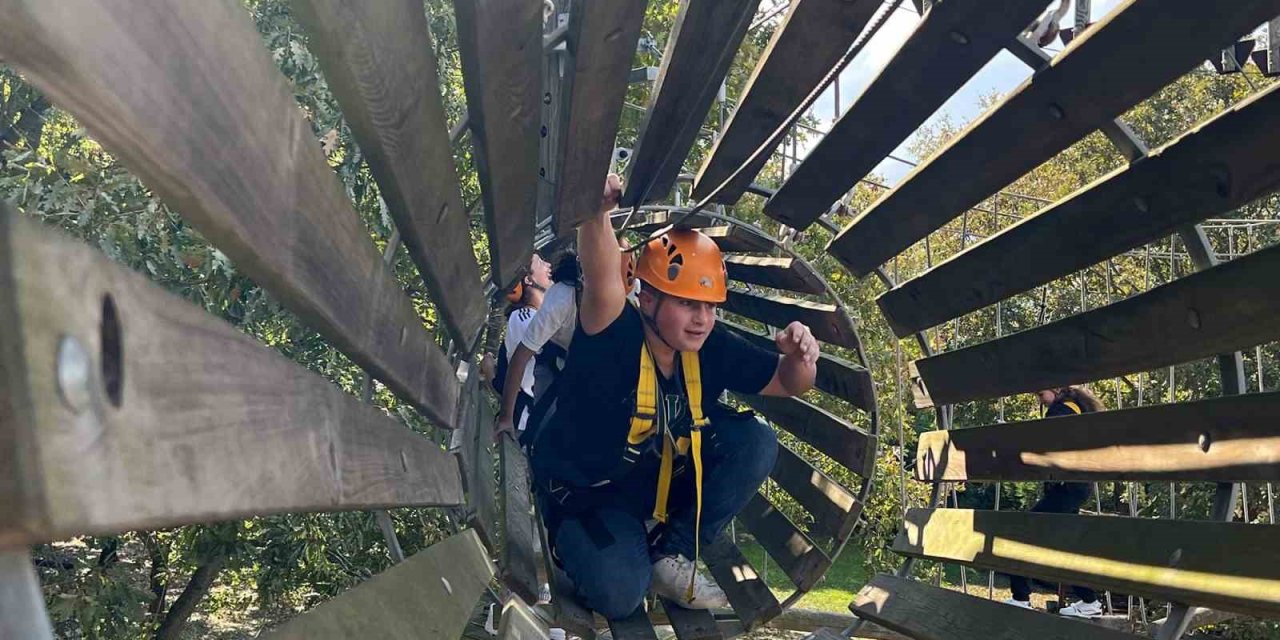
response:
{"label": "orange safety helmet worn by the crouching boy in front", "polygon": [[716,241],[696,229],[672,229],[649,241],[636,276],[678,298],[719,305],[728,297],[724,257]]}

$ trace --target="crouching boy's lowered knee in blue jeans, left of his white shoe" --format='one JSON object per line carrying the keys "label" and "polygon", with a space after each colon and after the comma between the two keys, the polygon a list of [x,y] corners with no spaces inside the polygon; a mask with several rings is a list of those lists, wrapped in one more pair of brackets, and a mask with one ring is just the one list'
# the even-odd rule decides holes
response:
{"label": "crouching boy's lowered knee in blue jeans, left of his white shoe", "polygon": [[607,618],[631,614],[649,591],[649,541],[644,522],[631,513],[603,508],[566,518],[556,532],[556,556],[582,604]]}

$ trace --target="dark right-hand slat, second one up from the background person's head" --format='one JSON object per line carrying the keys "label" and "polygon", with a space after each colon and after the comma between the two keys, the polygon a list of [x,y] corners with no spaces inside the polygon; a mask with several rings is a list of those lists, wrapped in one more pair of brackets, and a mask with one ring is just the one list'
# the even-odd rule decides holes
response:
{"label": "dark right-hand slat, second one up from the background person's head", "polygon": [[1280,87],[879,297],[905,337],[1231,211],[1280,187]]}

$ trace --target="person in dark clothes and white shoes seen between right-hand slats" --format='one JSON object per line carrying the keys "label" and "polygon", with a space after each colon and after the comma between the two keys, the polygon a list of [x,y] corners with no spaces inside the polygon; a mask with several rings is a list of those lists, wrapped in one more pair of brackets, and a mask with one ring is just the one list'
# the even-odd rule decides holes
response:
{"label": "person in dark clothes and white shoes seen between right-hand slats", "polygon": [[[1036,393],[1043,407],[1043,417],[1078,416],[1103,411],[1106,407],[1084,387],[1061,387]],[[1033,513],[1079,513],[1089,499],[1089,483],[1044,483],[1044,495],[1032,507]],[[1009,576],[1012,598],[1005,600],[1015,607],[1032,608],[1032,582],[1024,576]],[[1080,602],[1057,611],[1061,616],[1073,618],[1096,618],[1102,614],[1098,594],[1087,586],[1073,586],[1071,591]]]}

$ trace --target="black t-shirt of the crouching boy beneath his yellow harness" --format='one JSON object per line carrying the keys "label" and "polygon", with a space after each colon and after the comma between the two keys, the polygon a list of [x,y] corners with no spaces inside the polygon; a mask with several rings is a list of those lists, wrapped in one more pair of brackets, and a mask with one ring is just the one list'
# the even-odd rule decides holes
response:
{"label": "black t-shirt of the crouching boy beneath his yellow harness", "polygon": [[[590,486],[618,471],[631,430],[643,343],[643,320],[630,303],[595,335],[584,333],[579,324],[561,374],[556,415],[534,451],[536,474],[573,486]],[[777,366],[777,353],[716,325],[699,351],[703,412],[714,420],[716,401],[726,389],[759,393],[773,379]],[[673,434],[686,435],[692,420],[678,357],[671,379],[658,370],[658,412]]]}

